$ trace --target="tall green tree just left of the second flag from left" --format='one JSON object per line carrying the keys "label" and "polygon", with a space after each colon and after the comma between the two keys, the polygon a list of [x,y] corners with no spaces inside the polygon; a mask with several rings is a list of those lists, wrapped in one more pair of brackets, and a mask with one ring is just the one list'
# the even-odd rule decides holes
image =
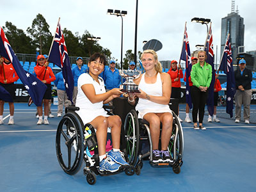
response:
{"label": "tall green tree just left of the second flag from left", "polygon": [[36,47],[40,48],[40,54],[49,52],[52,42],[52,34],[49,31],[49,24],[47,24],[43,15],[38,13],[33,20],[31,28],[27,29],[29,36],[32,38]]}

